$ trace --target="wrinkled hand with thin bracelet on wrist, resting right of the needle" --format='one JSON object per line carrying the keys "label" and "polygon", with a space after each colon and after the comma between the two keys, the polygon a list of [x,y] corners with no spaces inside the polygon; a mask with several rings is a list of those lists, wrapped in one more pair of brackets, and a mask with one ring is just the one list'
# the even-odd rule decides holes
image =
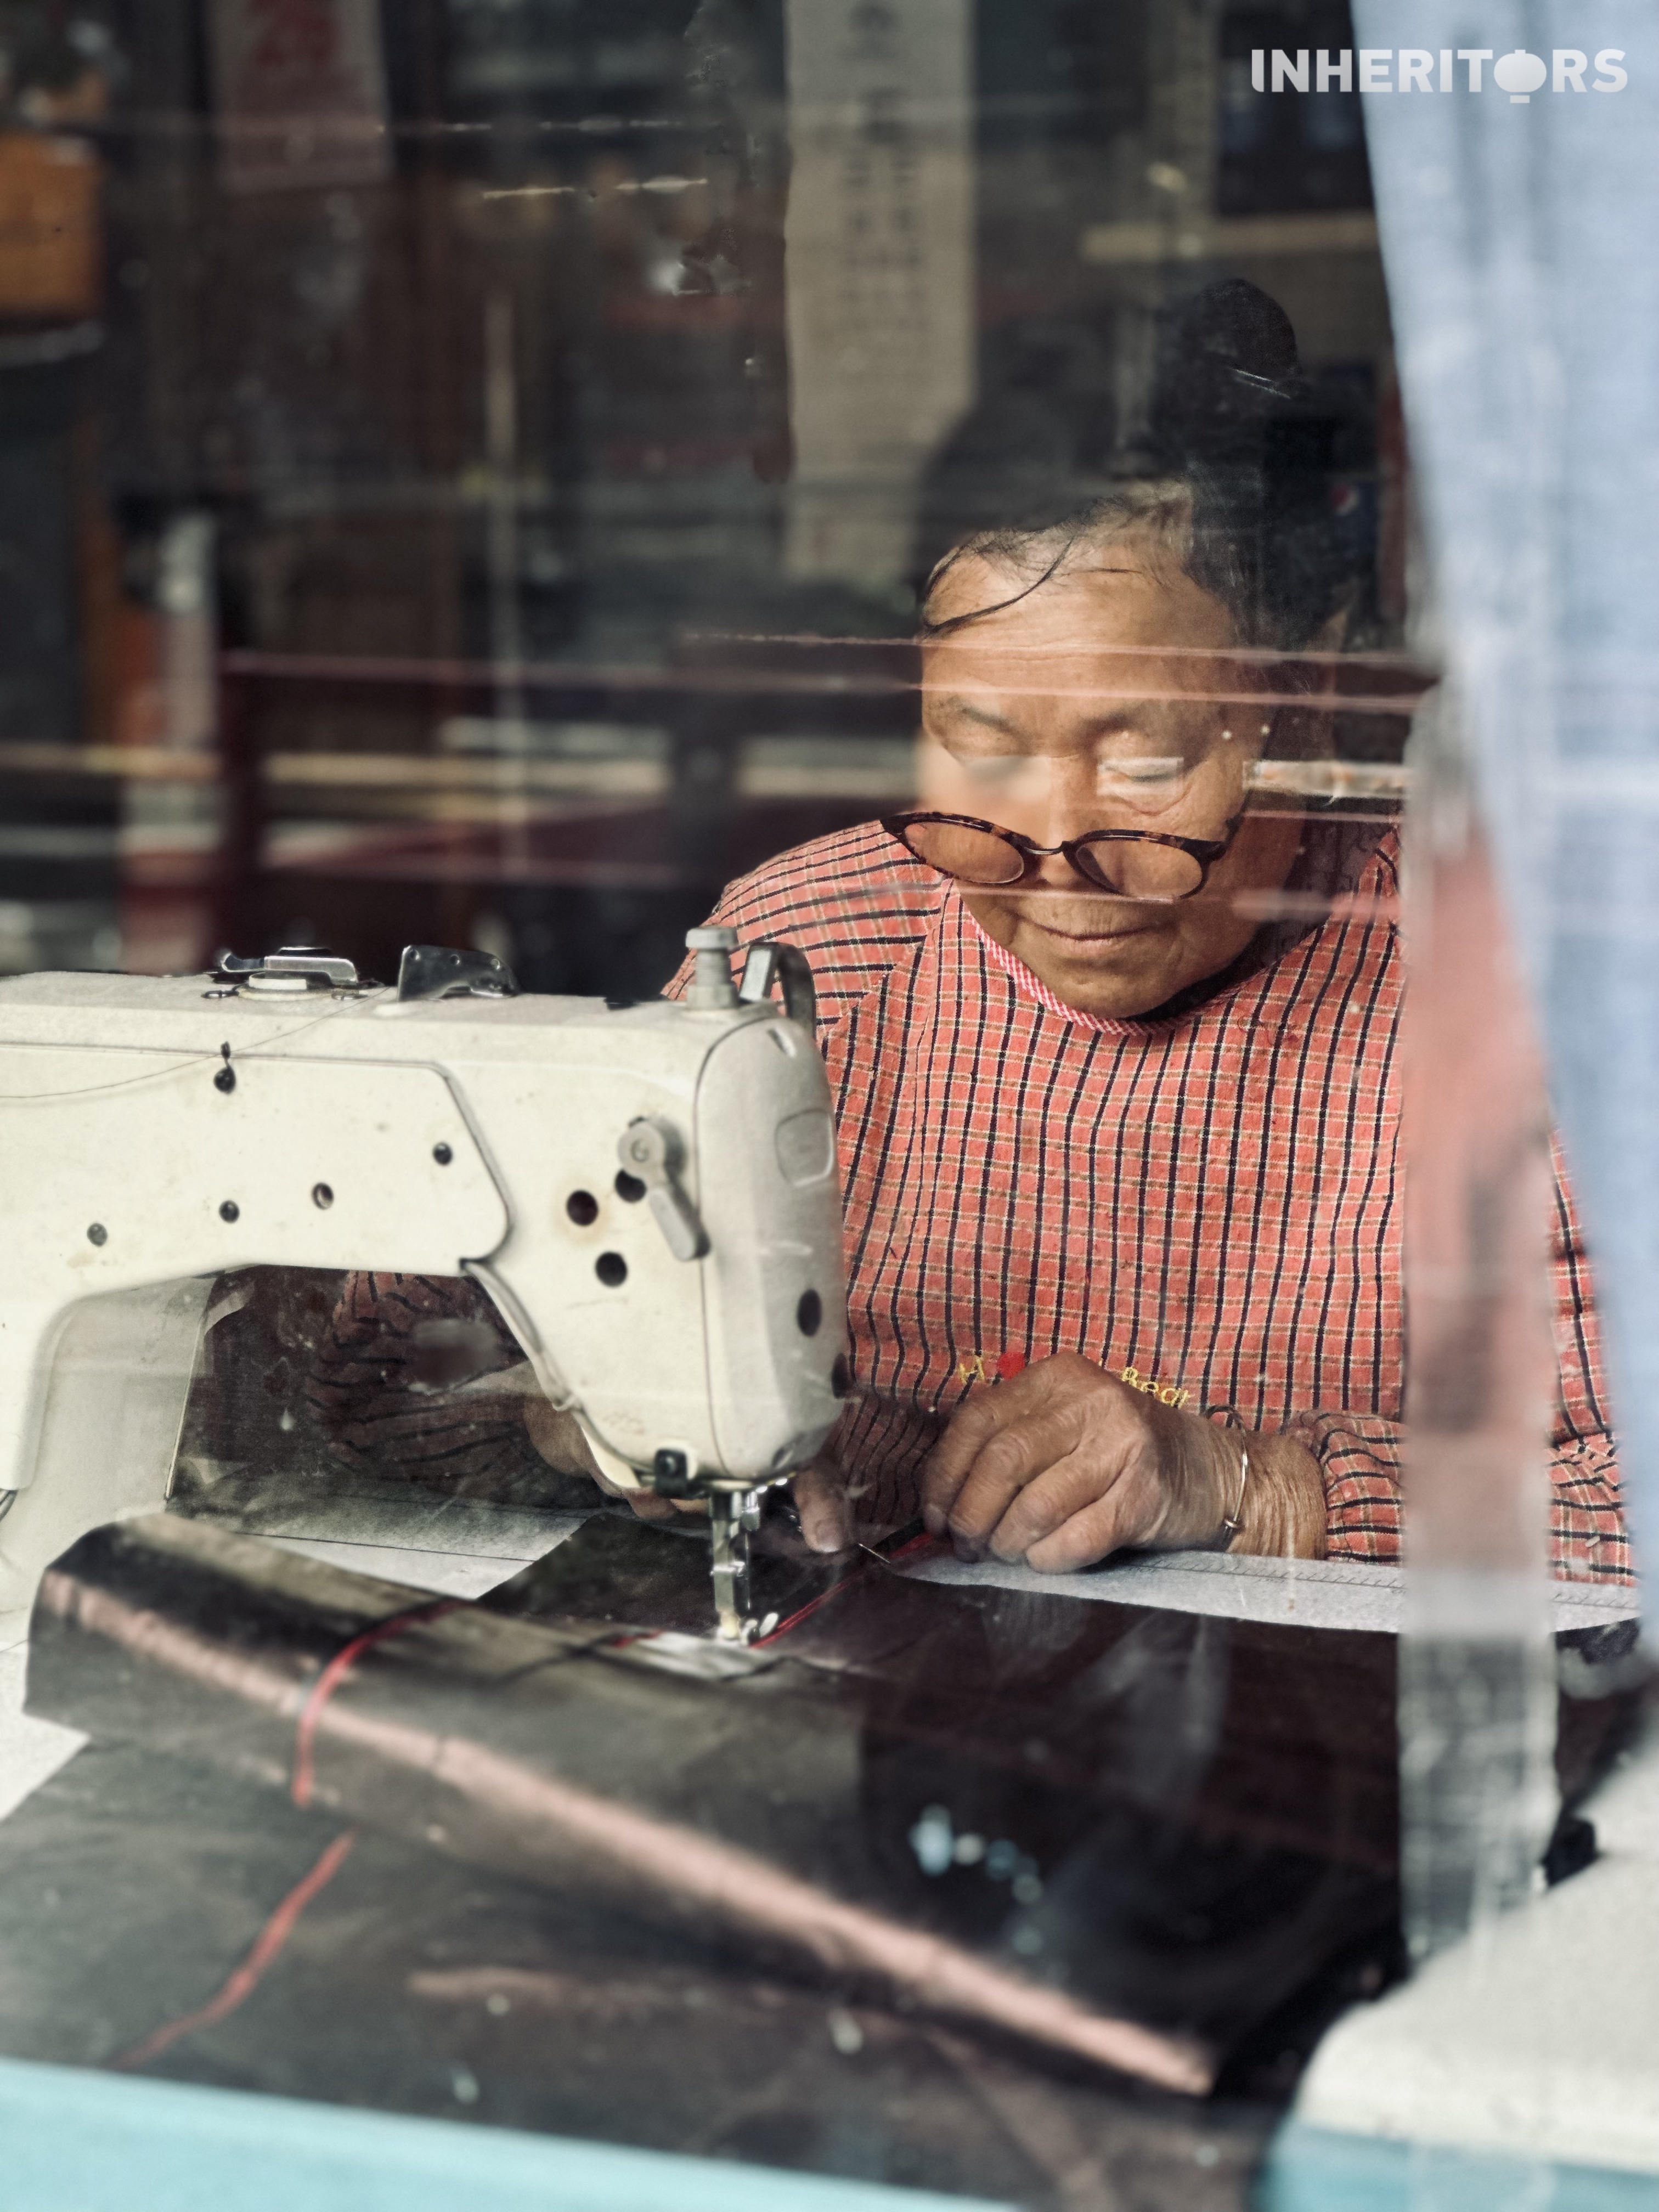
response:
{"label": "wrinkled hand with thin bracelet on wrist, resting right of the needle", "polygon": [[[1234,1551],[1318,1557],[1325,1491],[1283,1436],[1248,1436]],[[922,1520],[964,1559],[1091,1566],[1126,1544],[1214,1544],[1239,1498],[1239,1431],[1159,1405],[1077,1352],[975,1391],[922,1467]]]}

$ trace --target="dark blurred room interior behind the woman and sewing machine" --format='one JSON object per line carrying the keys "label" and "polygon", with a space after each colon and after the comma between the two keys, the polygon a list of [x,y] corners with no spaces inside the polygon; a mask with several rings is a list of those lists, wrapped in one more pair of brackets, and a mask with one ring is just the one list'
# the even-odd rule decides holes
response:
{"label": "dark blurred room interior behind the woman and sewing machine", "polygon": [[730,876],[907,799],[964,425],[1133,440],[1223,274],[1296,325],[1349,644],[1396,646],[1358,102],[1250,86],[1352,44],[1323,0],[0,0],[0,971],[659,989]]}

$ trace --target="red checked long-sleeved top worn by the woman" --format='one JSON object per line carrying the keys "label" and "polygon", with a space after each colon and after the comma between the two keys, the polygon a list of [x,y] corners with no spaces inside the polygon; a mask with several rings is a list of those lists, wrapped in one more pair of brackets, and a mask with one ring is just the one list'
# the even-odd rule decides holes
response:
{"label": "red checked long-sleeved top worn by the woman", "polygon": [[[858,1389],[836,1449],[872,1520],[916,1511],[969,1389],[1071,1349],[1296,1436],[1325,1473],[1329,1553],[1398,1557],[1402,975],[1374,907],[1398,896],[1394,838],[1363,832],[1325,887],[1354,911],[1141,1022],[1064,1006],[874,823],[726,891],[714,920],[787,938],[818,980]],[[1628,1579],[1559,1177],[1551,1265],[1555,1573]]]}

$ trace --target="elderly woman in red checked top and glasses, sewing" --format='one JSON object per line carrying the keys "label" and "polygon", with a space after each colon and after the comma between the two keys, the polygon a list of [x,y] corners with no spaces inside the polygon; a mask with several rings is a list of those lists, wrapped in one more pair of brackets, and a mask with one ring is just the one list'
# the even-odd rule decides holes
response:
{"label": "elderly woman in red checked top and glasses, sewing", "polygon": [[[1279,310],[1219,288],[1177,336],[1150,460],[1079,484],[1015,456],[958,513],[918,810],[714,916],[818,978],[854,1352],[796,1480],[823,1546],[920,1511],[1053,1571],[1398,1551],[1396,838],[1250,805],[1263,754],[1325,743],[1298,655],[1343,641],[1358,564],[1285,434]],[[1624,1577],[1559,1192],[1553,1274],[1555,1571]]]}

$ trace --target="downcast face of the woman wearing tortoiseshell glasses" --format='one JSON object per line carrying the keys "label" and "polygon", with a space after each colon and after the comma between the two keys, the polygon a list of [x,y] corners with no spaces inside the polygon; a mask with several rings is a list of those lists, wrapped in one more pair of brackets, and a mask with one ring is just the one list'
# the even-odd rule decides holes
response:
{"label": "downcast face of the woman wearing tortoiseshell glasses", "polygon": [[[964,555],[927,613],[947,622],[1020,588]],[[1234,644],[1225,606],[1150,544],[1084,549],[1018,606],[925,648],[918,805],[1037,845],[1088,830],[1223,838],[1272,723],[1250,697],[1261,666],[1230,659]],[[1206,889],[1172,902],[1102,891],[1060,854],[1018,889],[962,885],[962,898],[1068,1006],[1126,1020],[1237,960],[1259,922],[1239,894],[1279,889],[1298,843],[1294,818],[1254,816]]]}

